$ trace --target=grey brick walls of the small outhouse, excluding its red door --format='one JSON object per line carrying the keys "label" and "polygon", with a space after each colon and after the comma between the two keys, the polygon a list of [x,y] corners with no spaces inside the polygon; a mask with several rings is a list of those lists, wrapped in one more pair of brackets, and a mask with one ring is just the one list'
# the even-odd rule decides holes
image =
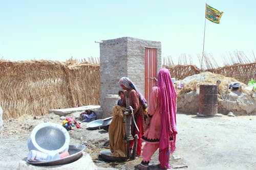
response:
{"label": "grey brick walls of the small outhouse, excluding its red door", "polygon": [[[100,105],[103,118],[113,115],[121,77],[129,77],[144,95],[145,48],[157,49],[157,71],[161,68],[161,42],[132,37],[100,43]],[[111,98],[110,98],[111,96]],[[114,102],[113,102],[114,101]]]}

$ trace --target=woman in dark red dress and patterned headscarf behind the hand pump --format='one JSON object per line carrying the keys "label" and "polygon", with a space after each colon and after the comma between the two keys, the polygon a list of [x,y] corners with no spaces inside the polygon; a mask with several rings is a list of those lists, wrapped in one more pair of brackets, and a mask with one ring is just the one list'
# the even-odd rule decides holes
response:
{"label": "woman in dark red dress and patterned headscarf behind the hand pump", "polygon": [[[144,109],[147,108],[146,100],[144,99],[143,95],[134,85],[134,83],[127,77],[122,77],[119,80],[119,85],[126,90],[124,92],[124,98],[122,99],[122,106],[126,107],[126,103],[133,107],[134,109],[134,118],[135,122],[139,129],[139,134],[137,129],[135,128],[134,123],[132,122],[132,135],[134,137],[135,134],[138,134],[138,144],[137,144],[137,151],[136,151],[136,158],[141,155],[141,147],[142,147],[142,140],[141,137],[143,135],[143,125],[144,125]],[[127,100],[127,101],[126,101]],[[131,140],[130,149],[133,148],[134,140]]]}

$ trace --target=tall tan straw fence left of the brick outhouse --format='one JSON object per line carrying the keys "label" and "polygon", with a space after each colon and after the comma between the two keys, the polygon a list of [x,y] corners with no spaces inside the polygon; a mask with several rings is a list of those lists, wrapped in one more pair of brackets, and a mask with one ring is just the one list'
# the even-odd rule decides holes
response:
{"label": "tall tan straw fence left of the brick outhouse", "polygon": [[3,118],[45,115],[49,109],[99,105],[99,65],[0,60]]}

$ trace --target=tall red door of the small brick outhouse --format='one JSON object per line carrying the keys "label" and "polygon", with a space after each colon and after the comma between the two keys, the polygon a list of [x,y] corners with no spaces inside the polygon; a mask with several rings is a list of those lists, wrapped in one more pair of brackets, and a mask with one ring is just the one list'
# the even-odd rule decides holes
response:
{"label": "tall red door of the small brick outhouse", "polygon": [[157,49],[145,48],[145,99],[148,103],[152,87],[157,85]]}

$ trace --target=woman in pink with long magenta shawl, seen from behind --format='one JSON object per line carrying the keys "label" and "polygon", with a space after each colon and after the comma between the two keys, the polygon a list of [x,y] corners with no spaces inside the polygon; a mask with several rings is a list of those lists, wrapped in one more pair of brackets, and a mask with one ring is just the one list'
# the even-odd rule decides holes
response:
{"label": "woman in pink with long magenta shawl, seen from behind", "polygon": [[175,151],[176,141],[176,102],[177,93],[170,72],[166,68],[158,73],[157,87],[152,88],[148,103],[150,127],[144,132],[142,140],[143,160],[136,169],[146,169],[152,155],[159,148],[160,168],[169,168],[169,157]]}

